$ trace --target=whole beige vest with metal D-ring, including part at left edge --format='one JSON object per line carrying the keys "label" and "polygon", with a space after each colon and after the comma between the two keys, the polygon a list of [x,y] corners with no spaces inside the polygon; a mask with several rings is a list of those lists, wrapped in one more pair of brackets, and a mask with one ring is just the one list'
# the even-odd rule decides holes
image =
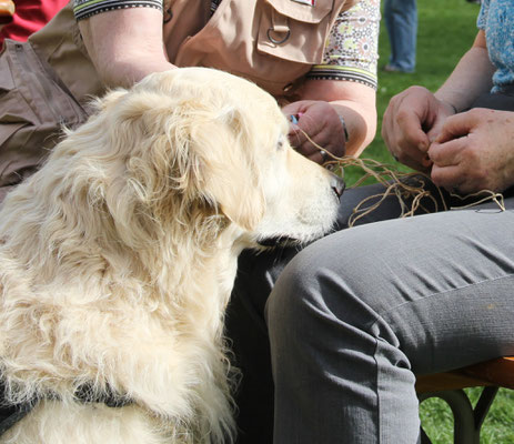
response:
{"label": "whole beige vest with metal D-ring, including part at left edge", "polygon": [[[210,0],[164,0],[170,61],[231,71],[281,101],[294,100],[303,75],[321,62],[334,20],[354,0],[315,0],[315,7],[301,1],[223,0],[211,18]],[[61,124],[74,128],[85,121],[85,104],[104,89],[72,4],[29,43],[6,41],[0,57],[0,201],[39,168]]]}

